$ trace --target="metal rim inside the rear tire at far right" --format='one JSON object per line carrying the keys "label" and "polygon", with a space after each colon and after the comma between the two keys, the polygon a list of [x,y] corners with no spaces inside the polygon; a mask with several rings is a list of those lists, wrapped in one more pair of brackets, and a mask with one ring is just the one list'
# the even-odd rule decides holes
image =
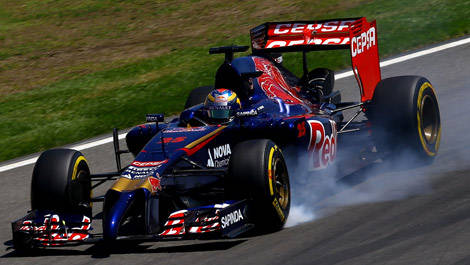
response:
{"label": "metal rim inside the rear tire at far right", "polygon": [[436,143],[439,133],[439,117],[436,103],[430,95],[425,95],[421,101],[420,116],[422,131],[427,144]]}

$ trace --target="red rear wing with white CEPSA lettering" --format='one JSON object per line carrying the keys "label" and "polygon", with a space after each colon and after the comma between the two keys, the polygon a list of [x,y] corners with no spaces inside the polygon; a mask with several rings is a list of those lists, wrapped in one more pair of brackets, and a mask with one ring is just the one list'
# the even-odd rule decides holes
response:
{"label": "red rear wing with white CEPSA lettering", "polygon": [[376,23],[365,17],[267,22],[251,29],[250,35],[254,54],[349,49],[362,102],[372,99],[381,80]]}

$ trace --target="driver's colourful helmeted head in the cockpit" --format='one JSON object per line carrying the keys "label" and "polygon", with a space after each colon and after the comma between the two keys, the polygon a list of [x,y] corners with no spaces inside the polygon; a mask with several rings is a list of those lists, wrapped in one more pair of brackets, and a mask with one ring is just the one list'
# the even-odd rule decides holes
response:
{"label": "driver's colourful helmeted head in the cockpit", "polygon": [[204,112],[212,123],[229,121],[240,108],[237,94],[225,88],[212,90],[204,102]]}

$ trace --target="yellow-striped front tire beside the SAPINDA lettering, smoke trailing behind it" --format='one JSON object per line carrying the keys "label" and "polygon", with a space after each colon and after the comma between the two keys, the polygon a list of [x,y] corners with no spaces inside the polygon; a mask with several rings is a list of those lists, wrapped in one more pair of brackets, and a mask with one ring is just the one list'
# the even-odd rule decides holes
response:
{"label": "yellow-striped front tire beside the SAPINDA lettering, smoke trailing behind it", "polygon": [[251,218],[262,232],[281,229],[289,215],[290,184],[281,149],[267,139],[237,144],[230,158],[226,192],[253,202]]}

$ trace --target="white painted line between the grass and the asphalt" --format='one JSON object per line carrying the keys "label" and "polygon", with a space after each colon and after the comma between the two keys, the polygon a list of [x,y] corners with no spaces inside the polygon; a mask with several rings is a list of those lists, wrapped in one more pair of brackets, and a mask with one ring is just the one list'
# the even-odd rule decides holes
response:
{"label": "white painted line between the grass and the asphalt", "polygon": [[[461,40],[458,40],[458,41],[446,43],[446,44],[443,44],[443,45],[439,45],[439,46],[434,47],[434,48],[429,48],[429,49],[426,49],[426,50],[415,52],[415,53],[412,53],[412,54],[403,55],[403,56],[400,56],[400,57],[397,57],[397,58],[394,58],[394,59],[385,60],[385,61],[380,63],[380,67],[385,67],[385,66],[388,66],[388,65],[401,63],[401,62],[408,61],[408,60],[411,60],[411,59],[414,59],[414,58],[417,58],[417,57],[421,57],[421,56],[428,55],[428,54],[431,54],[431,53],[443,51],[443,50],[450,49],[450,48],[453,48],[453,47],[457,47],[457,46],[460,46],[460,45],[464,45],[464,44],[467,44],[467,43],[470,43],[470,37],[465,38],[465,39],[461,39]],[[347,72],[344,72],[344,73],[337,74],[335,76],[335,80],[346,78],[346,77],[353,76],[353,75],[354,75],[353,71],[347,71]],[[119,135],[120,140],[124,139],[125,137],[126,137],[125,133]],[[89,142],[89,143],[86,143],[86,144],[74,145],[70,148],[81,151],[81,150],[96,147],[96,146],[99,146],[99,145],[111,143],[112,141],[113,141],[113,137],[107,137],[107,138],[97,140],[97,141],[93,141],[93,142]],[[30,165],[30,164],[34,164],[38,158],[39,158],[39,156],[35,156],[35,157],[29,158],[29,159],[26,159],[26,160],[23,160],[23,161],[14,162],[14,163],[11,163],[11,164],[1,166],[0,167],[0,172],[4,172],[4,171],[10,170],[10,169],[15,169],[15,168]]]}

